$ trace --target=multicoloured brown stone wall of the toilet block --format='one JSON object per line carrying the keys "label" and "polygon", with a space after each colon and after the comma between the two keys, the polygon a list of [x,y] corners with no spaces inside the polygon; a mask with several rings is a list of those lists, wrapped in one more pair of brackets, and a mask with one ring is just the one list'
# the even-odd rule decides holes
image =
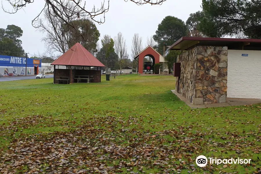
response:
{"label": "multicoloured brown stone wall of the toilet block", "polygon": [[179,55],[179,93],[194,105],[226,102],[227,52],[227,47],[197,46]]}

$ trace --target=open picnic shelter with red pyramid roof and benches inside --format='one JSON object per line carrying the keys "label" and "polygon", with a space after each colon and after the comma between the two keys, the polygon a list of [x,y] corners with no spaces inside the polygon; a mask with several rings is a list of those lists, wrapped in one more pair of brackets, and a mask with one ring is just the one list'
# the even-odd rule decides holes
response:
{"label": "open picnic shelter with red pyramid roof and benches inside", "polygon": [[[51,65],[54,66],[54,84],[101,82],[101,68],[105,67],[79,43],[72,46]],[[66,69],[55,69],[55,66],[66,66]]]}

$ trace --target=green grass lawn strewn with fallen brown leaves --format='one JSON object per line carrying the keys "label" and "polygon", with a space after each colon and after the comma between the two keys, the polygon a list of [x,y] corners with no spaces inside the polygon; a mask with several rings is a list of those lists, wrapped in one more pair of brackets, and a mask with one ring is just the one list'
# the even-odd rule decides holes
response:
{"label": "green grass lawn strewn with fallen brown leaves", "polygon": [[[191,109],[171,93],[173,76],[52,82],[1,82],[0,173],[260,170],[261,104]],[[252,160],[200,168],[199,155]]]}

